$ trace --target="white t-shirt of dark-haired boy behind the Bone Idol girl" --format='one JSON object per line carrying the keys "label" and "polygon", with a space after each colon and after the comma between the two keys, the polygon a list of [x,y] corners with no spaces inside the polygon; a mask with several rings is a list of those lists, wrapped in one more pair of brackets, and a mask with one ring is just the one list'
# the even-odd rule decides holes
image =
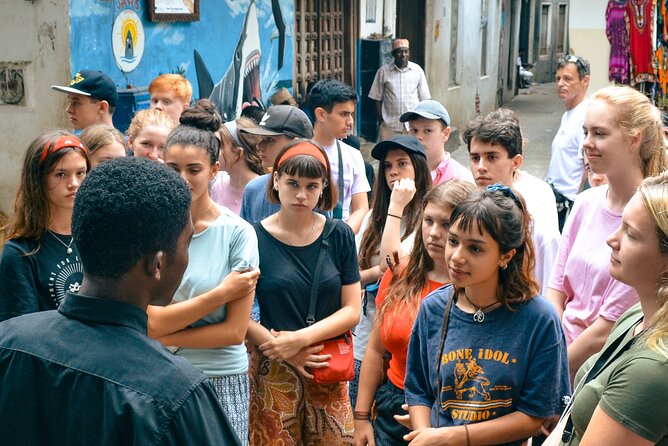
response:
{"label": "white t-shirt of dark-haired boy behind the Bone Idol girl", "polygon": [[545,295],[561,239],[554,193],[545,181],[523,170],[515,172],[513,189],[522,195],[533,218],[535,277],[540,285],[540,294]]}

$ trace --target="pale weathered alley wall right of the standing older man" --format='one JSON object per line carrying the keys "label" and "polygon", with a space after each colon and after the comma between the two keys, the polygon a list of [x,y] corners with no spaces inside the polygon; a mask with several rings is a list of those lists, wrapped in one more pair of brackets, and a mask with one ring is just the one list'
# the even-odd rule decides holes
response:
{"label": "pale weathered alley wall right of the standing older man", "polygon": [[[476,93],[483,114],[496,105],[499,65],[500,5],[490,0],[487,15],[487,74],[481,75],[481,2],[459,2],[458,17],[452,17],[450,0],[427,2],[425,74],[434,100],[448,109],[453,128],[460,132],[476,115]],[[457,46],[452,48],[450,27],[458,21]],[[451,63],[451,51],[457,51],[456,63]],[[456,83],[450,84],[450,70],[456,69]],[[451,142],[448,146],[451,147]]]}

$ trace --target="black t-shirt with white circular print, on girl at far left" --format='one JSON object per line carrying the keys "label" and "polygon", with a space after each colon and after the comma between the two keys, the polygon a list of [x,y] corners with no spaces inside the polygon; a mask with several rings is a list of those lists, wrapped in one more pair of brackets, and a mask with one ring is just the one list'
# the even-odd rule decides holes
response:
{"label": "black t-shirt with white circular print, on girl at far left", "polygon": [[[69,235],[57,234],[68,245]],[[0,256],[0,321],[37,311],[55,310],[67,291],[76,293],[83,281],[83,266],[76,246],[72,253],[53,234],[39,240],[9,240]],[[41,246],[40,246],[41,245]],[[39,246],[39,250],[33,252]]]}

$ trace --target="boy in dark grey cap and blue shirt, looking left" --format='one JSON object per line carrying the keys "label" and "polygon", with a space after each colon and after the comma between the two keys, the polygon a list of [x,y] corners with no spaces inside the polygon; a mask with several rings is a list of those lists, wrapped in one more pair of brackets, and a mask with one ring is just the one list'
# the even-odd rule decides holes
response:
{"label": "boy in dark grey cap and blue shirt, looking left", "polygon": [[[313,126],[306,113],[291,105],[269,107],[257,127],[240,128],[240,132],[261,136],[257,151],[265,171],[274,167],[276,155],[295,138],[312,138]],[[246,184],[241,199],[241,218],[253,224],[280,209],[267,198],[267,183],[271,174],[261,175]]]}

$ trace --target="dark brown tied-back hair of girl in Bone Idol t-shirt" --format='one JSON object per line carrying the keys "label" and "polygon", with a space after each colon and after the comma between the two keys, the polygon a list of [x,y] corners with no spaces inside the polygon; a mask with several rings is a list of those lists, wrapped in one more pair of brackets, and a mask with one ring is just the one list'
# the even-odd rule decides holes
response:
{"label": "dark brown tied-back hair of girl in Bone Idol t-shirt", "polygon": [[450,216],[450,226],[457,224],[464,231],[486,231],[499,252],[515,250],[505,269],[499,269],[496,297],[512,309],[512,304],[531,300],[538,294],[534,277],[536,257],[532,241],[533,223],[522,196],[507,189],[479,190],[457,205]]}

